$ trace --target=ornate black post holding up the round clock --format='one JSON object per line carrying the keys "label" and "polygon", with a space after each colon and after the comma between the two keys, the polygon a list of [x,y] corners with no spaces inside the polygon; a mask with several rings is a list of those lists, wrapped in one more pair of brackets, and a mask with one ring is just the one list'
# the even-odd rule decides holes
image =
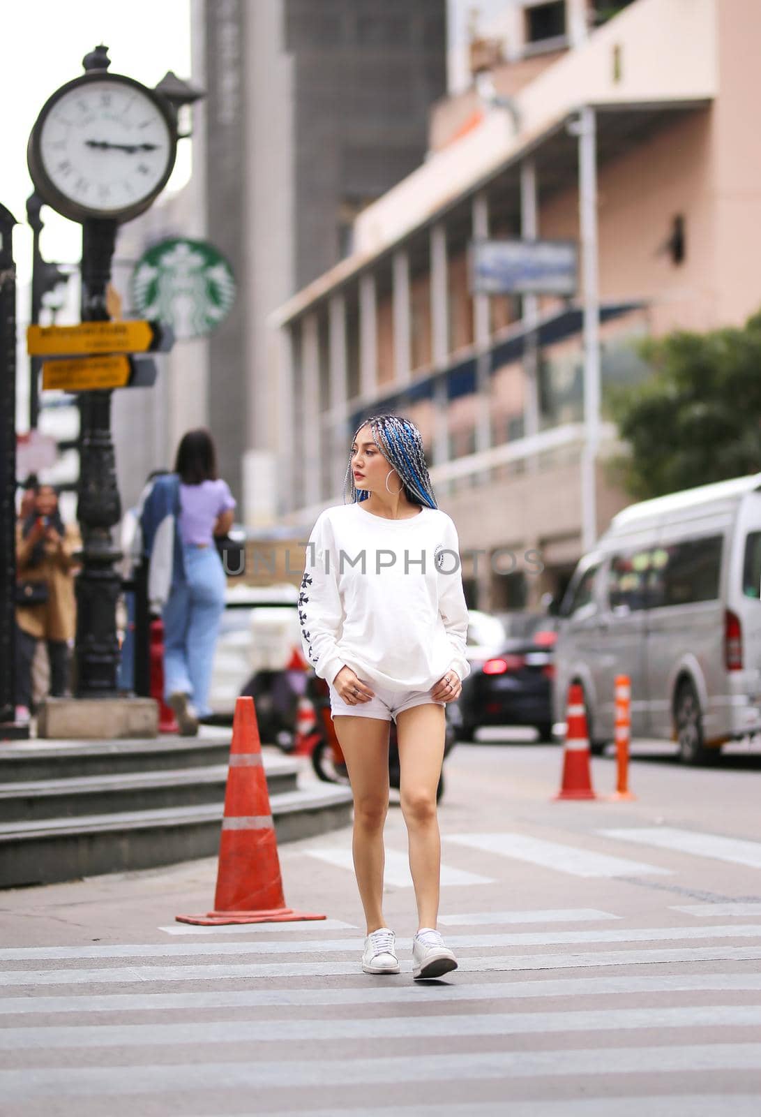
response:
{"label": "ornate black post holding up the round clock", "polygon": [[[105,49],[85,58],[85,69],[108,67]],[[106,288],[116,245],[117,222],[89,218],[81,227],[81,321],[107,322]],[[76,689],[79,698],[116,695],[119,649],[116,602],[122,557],[112,533],[122,517],[116,485],[116,458],[110,437],[112,392],[79,397],[79,486],[77,519],[83,536],[81,572],[77,579]]]}

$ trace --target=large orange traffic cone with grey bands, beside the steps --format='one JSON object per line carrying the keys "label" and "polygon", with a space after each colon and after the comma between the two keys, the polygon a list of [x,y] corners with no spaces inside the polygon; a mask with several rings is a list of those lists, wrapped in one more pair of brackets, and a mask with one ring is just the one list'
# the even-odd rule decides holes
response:
{"label": "large orange traffic cone with grey bands, beside the steps", "polygon": [[200,926],[325,919],[286,907],[253,698],[235,703],[214,910],[175,918]]}

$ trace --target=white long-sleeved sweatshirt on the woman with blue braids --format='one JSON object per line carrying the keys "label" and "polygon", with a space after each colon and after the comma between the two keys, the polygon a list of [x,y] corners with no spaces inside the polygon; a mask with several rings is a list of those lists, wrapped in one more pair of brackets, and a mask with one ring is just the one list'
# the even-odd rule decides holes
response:
{"label": "white long-sleeved sweatshirt on the woman with blue braids", "polygon": [[344,666],[388,690],[430,690],[470,674],[457,532],[423,508],[384,519],[363,503],[326,508],[312,528],[299,596],[301,642],[317,675]]}

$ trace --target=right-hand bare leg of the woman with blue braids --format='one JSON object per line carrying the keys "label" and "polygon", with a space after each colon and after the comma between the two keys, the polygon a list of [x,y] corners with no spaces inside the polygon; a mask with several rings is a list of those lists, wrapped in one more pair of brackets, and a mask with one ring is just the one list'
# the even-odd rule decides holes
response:
{"label": "right-hand bare leg of the woman with blue braids", "polygon": [[445,727],[444,707],[433,703],[402,710],[396,718],[402,813],[410,840],[418,928],[435,928],[439,916],[441,839],[436,789],[444,760]]}

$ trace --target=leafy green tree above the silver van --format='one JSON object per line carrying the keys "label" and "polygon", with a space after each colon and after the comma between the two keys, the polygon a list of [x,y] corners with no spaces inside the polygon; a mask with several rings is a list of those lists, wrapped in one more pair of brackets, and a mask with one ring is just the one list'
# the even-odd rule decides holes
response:
{"label": "leafy green tree above the silver van", "polygon": [[652,376],[609,398],[630,450],[613,472],[630,496],[761,470],[761,313],[742,328],[649,338],[639,352]]}

